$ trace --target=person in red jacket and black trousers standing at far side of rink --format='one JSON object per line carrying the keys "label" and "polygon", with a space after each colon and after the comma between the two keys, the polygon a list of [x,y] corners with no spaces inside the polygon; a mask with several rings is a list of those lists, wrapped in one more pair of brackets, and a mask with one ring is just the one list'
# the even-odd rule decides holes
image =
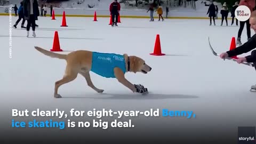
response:
{"label": "person in red jacket and black trousers standing at far side of rink", "polygon": [[113,3],[110,4],[109,11],[110,11],[110,15],[112,17],[112,25],[111,26],[114,26],[114,23],[115,23],[115,26],[117,26],[117,19],[118,19],[120,9],[121,9],[121,6],[117,2],[117,0],[115,0]]}

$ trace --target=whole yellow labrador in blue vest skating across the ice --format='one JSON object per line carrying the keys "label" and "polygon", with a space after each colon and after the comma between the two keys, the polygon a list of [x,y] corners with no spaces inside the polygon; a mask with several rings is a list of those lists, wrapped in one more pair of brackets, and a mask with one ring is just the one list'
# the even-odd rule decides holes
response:
{"label": "whole yellow labrador in blue vest skating across the ice", "polygon": [[59,87],[73,81],[77,77],[77,74],[84,76],[87,85],[89,85],[93,90],[98,93],[102,93],[103,90],[98,89],[93,85],[89,71],[93,71],[103,77],[117,78],[118,82],[128,87],[132,92],[147,92],[147,89],[142,85],[132,84],[124,77],[124,74],[127,71],[147,74],[148,71],[152,69],[139,57],[128,57],[127,54],[119,55],[114,53],[98,53],[84,50],[74,51],[69,54],[58,54],[37,46],[35,46],[35,49],[49,57],[64,59],[67,61],[65,75],[60,81],[55,82],[54,98],[61,98],[61,95],[58,94]]}

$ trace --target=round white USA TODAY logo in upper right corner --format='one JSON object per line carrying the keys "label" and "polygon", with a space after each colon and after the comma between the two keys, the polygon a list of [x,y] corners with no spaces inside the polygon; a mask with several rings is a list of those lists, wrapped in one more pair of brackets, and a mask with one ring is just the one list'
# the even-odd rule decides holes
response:
{"label": "round white USA TODAY logo in upper right corner", "polygon": [[235,10],[235,17],[239,21],[246,21],[251,16],[251,10],[245,5],[238,6]]}

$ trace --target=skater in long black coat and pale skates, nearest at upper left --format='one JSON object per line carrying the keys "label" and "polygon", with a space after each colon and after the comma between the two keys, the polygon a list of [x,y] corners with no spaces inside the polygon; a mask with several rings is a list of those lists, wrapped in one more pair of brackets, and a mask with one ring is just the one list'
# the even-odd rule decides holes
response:
{"label": "skater in long black coat and pale skates, nearest at upper left", "polygon": [[27,24],[27,37],[29,36],[30,25],[32,24],[33,36],[36,37],[36,20],[39,16],[39,9],[37,0],[23,0],[23,13],[25,20],[28,21]]}

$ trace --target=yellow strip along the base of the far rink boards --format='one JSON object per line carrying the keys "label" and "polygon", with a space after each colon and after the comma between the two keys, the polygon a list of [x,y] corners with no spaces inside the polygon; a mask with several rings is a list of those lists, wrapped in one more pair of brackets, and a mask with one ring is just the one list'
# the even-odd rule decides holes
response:
{"label": "yellow strip along the base of the far rink boards", "polygon": [[[0,15],[9,15],[9,13],[0,13]],[[15,14],[12,14],[15,15]],[[50,17],[50,14],[46,14],[47,17]],[[39,16],[41,17],[41,16]],[[55,14],[55,17],[62,17],[62,14]],[[85,15],[85,14],[66,14],[66,17],[94,17],[94,15]],[[97,18],[109,18],[110,15],[97,15]],[[138,19],[150,19],[148,16],[138,16],[138,15],[122,15],[121,18],[138,18]],[[157,19],[158,17],[154,17]],[[209,17],[167,17],[167,19],[209,19]],[[228,18],[231,20],[231,18]]]}

